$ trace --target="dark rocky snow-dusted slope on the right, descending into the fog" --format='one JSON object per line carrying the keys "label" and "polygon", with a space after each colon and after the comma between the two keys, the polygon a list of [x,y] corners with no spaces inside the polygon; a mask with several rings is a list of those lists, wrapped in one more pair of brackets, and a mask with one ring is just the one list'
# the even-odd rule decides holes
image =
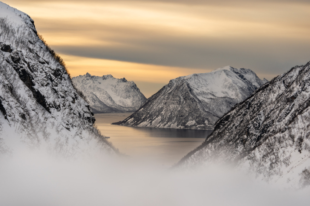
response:
{"label": "dark rocky snow-dusted slope on the right, descending into the fog", "polygon": [[256,90],[179,166],[230,162],[287,187],[310,185],[310,62]]}

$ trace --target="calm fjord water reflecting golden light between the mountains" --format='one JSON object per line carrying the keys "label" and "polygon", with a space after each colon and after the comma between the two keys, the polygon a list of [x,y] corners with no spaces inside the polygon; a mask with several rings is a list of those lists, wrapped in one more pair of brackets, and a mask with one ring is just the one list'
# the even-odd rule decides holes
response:
{"label": "calm fjord water reflecting golden light between the mountains", "polygon": [[112,125],[132,113],[96,114],[95,125],[121,153],[170,166],[199,146],[211,130],[144,128]]}

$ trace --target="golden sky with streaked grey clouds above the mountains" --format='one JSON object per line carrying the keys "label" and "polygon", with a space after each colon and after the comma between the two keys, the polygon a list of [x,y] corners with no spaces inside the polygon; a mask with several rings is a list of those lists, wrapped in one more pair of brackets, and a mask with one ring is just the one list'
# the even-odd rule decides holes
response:
{"label": "golden sky with streaked grey clouds above the mountains", "polygon": [[112,74],[146,97],[231,65],[271,79],[310,61],[310,3],[296,0],[3,0],[30,15],[72,76]]}

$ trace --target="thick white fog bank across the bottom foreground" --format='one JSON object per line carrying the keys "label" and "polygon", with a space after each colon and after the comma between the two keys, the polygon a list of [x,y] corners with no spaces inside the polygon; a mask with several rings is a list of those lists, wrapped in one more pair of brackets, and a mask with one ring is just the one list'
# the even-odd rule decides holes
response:
{"label": "thick white fog bank across the bottom foreground", "polygon": [[284,190],[227,167],[175,170],[130,158],[65,160],[44,151],[0,158],[0,205],[307,205],[310,188]]}

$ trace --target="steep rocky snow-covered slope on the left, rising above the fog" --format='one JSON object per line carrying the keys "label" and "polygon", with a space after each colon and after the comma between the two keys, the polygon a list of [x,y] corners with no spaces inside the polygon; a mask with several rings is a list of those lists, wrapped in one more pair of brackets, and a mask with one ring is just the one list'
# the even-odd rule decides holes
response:
{"label": "steep rocky snow-covered slope on the left, rising above the fog", "polygon": [[113,152],[52,52],[27,14],[0,2],[0,153],[18,145],[67,157]]}

